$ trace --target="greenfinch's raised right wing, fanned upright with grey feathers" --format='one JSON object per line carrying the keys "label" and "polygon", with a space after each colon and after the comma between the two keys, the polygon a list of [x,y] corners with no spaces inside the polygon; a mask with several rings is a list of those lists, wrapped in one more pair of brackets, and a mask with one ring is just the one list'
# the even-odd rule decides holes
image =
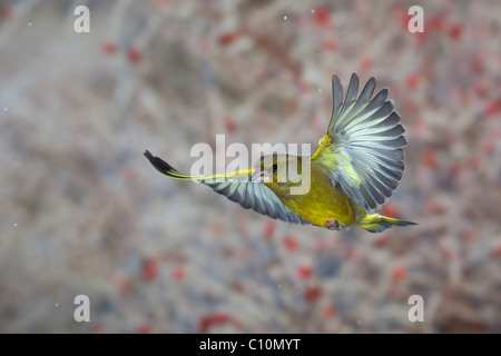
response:
{"label": "greenfinch's raised right wing, fanned upright with grey feathers", "polygon": [[389,90],[371,99],[376,81],[371,78],[358,95],[358,76],[352,75],[343,101],[340,78],[332,77],[333,106],[326,135],[312,160],[332,171],[333,182],[367,212],[393,195],[404,170],[402,147],[407,142]]}

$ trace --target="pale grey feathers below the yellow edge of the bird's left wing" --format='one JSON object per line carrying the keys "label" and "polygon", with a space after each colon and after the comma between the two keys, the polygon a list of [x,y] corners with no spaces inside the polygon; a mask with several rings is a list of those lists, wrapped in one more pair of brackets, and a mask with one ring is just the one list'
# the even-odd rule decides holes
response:
{"label": "pale grey feathers below the yellow edge of the bird's left wing", "polygon": [[253,209],[256,212],[287,222],[310,224],[291,210],[268,187],[261,182],[234,179],[203,180],[202,182],[229,200],[238,202],[245,209]]}

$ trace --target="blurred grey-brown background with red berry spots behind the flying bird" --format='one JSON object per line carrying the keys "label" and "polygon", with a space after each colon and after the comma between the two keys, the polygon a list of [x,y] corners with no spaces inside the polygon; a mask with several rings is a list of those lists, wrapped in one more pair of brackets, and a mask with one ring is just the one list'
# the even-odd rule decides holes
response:
{"label": "blurred grey-brown background with red berry spots behind the flying bird", "polygon": [[[501,333],[501,3],[420,1],[423,33],[413,4],[0,1],[0,332]],[[407,130],[382,214],[419,226],[288,225],[143,156],[314,151],[353,71]]]}

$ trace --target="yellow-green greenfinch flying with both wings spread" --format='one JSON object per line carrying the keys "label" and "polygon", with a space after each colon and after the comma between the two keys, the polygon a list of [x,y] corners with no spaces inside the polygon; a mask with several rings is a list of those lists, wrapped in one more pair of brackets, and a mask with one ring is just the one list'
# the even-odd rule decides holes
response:
{"label": "yellow-green greenfinch flying with both wings spread", "polygon": [[[392,226],[415,225],[374,212],[393,195],[404,171],[403,147],[407,144],[401,117],[386,100],[384,88],[372,98],[372,77],[358,96],[358,76],[353,73],[346,97],[336,75],[332,76],[333,105],[327,130],[311,157],[263,156],[253,168],[194,177],[174,169],[145,151],[160,172],[177,179],[199,179],[246,209],[287,222],[311,224],[331,230],[360,226],[381,233]],[[287,166],[296,161],[295,175]],[[308,172],[302,170],[307,160]],[[230,179],[246,175],[246,181]],[[279,176],[285,179],[277,179]],[[306,182],[306,184],[305,184]],[[306,187],[301,191],[302,187]],[[291,194],[291,189],[298,191]]]}

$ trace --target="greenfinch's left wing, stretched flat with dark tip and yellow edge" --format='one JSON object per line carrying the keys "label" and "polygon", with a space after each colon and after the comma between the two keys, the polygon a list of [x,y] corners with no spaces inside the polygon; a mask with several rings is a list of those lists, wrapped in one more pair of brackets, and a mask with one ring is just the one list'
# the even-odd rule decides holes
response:
{"label": "greenfinch's left wing, stretched flat with dark tip and yellow edge", "polygon": [[[286,205],[277,198],[277,196],[265,185],[254,181],[240,181],[228,178],[217,178],[214,176],[191,177],[180,174],[169,164],[159,157],[153,156],[149,151],[145,152],[145,157],[151,165],[166,176],[177,179],[199,179],[200,182],[209,186],[214,191],[224,195],[229,200],[238,202],[245,209],[253,209],[263,215],[267,215],[274,219],[281,219],[294,224],[310,224],[296,212],[291,210]],[[237,175],[225,175],[226,177]]]}

